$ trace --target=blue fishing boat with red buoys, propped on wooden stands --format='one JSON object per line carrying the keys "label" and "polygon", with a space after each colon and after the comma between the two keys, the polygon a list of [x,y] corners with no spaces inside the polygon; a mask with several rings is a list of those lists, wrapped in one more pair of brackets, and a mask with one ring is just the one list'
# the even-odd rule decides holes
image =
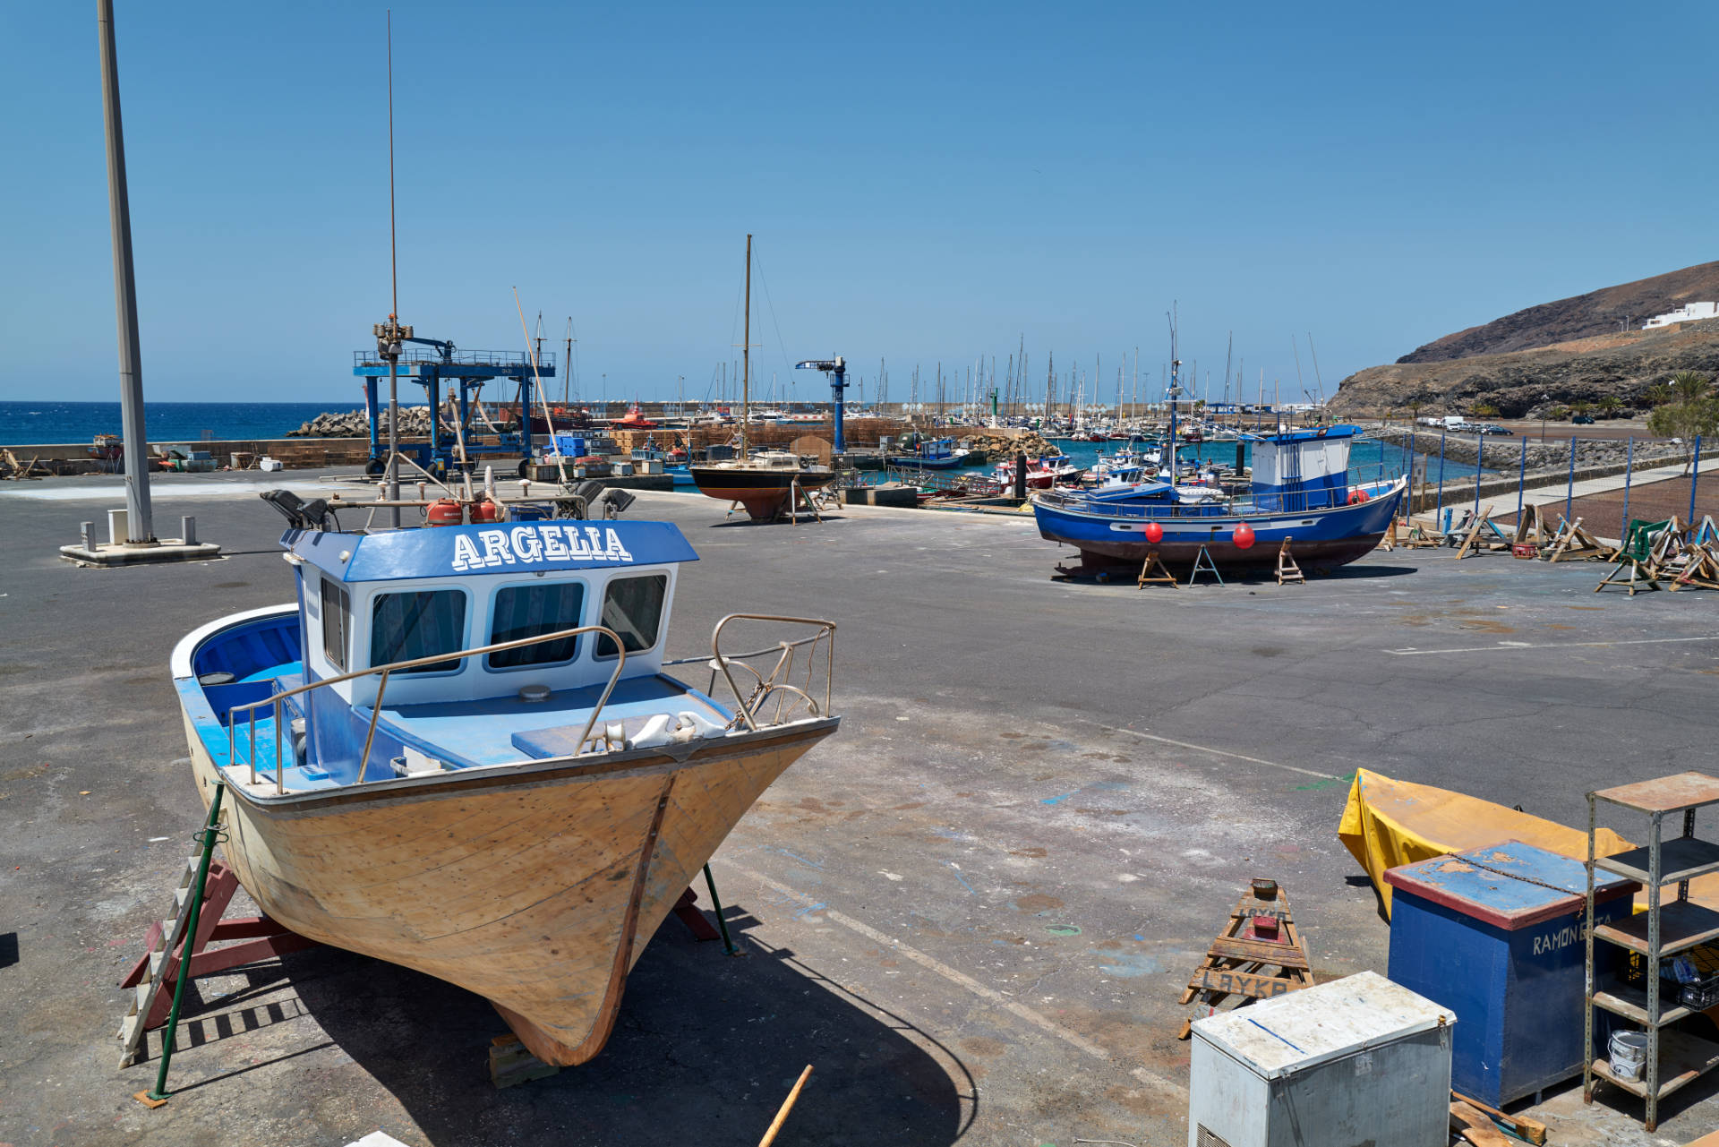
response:
{"label": "blue fishing boat with red buoys, propped on wooden stands", "polygon": [[[1169,566],[1193,566],[1205,547],[1219,569],[1275,562],[1284,542],[1298,562],[1343,566],[1384,538],[1406,478],[1358,481],[1349,444],[1360,426],[1243,435],[1253,449],[1253,483],[1241,497],[1167,481],[1033,495],[1038,533],[1080,550],[1073,576],[1140,569],[1157,550]],[[1172,439],[1174,442],[1174,439]]]}

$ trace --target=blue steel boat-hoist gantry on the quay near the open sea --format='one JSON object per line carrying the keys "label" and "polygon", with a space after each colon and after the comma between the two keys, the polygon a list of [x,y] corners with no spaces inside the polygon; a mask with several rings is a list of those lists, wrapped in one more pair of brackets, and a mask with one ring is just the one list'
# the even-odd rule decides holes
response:
{"label": "blue steel boat-hoist gantry on the quay near the open sea", "polygon": [[[380,332],[378,332],[380,334]],[[554,378],[554,353],[538,353],[536,371],[531,368],[531,356],[523,351],[459,351],[444,339],[419,339],[411,327],[399,327],[401,342],[416,342],[426,349],[402,351],[399,356],[399,377],[419,383],[430,399],[430,444],[402,447],[425,469],[445,471],[454,461],[454,444],[442,440],[442,380],[459,383],[459,426],[466,435],[466,456],[480,454],[519,454],[531,457],[531,390],[533,377]],[[352,373],[364,380],[364,409],[370,414],[370,464],[366,471],[380,475],[387,464],[387,451],[378,435],[376,416],[376,378],[388,377],[388,361],[382,353],[354,351]],[[499,445],[474,445],[471,433],[471,396],[483,389],[492,378],[511,378],[519,385],[519,433],[502,435]],[[524,473],[521,463],[521,473]]]}

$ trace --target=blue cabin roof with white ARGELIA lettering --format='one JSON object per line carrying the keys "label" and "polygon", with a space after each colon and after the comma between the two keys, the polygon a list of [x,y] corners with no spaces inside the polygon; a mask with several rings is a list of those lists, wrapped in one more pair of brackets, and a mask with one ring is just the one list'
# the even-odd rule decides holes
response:
{"label": "blue cabin roof with white ARGELIA lettering", "polygon": [[335,581],[401,581],[696,562],[667,521],[504,521],[383,533],[287,530],[280,545]]}

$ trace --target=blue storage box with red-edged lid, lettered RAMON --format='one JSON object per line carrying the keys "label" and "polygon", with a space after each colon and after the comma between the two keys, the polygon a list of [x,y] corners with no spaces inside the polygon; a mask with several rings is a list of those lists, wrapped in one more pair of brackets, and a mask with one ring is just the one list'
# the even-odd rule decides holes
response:
{"label": "blue storage box with red-edged lid, lettered RAMON", "polygon": [[[1635,880],[1594,874],[1600,923],[1628,917]],[[1587,874],[1506,841],[1386,872],[1391,978],[1463,1016],[1451,1087],[1492,1107],[1580,1075]],[[1604,984],[1623,949],[1595,944]],[[1599,1027],[1595,1028],[1599,1032]]]}

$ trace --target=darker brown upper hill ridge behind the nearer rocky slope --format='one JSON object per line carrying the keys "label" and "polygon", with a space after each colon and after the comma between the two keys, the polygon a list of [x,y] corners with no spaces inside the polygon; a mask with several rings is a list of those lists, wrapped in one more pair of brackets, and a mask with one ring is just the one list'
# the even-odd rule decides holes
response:
{"label": "darker brown upper hill ridge behind the nearer rocky slope", "polygon": [[1504,354],[1573,339],[1640,330],[1654,315],[1685,303],[1719,299],[1719,263],[1698,263],[1556,303],[1530,306],[1490,323],[1458,330],[1404,354],[1398,363],[1446,363],[1475,354]]}

